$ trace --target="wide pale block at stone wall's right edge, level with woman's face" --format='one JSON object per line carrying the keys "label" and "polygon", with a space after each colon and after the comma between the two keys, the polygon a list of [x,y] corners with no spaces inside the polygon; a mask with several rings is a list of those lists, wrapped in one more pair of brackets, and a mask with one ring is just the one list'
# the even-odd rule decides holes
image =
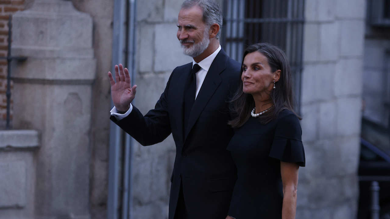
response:
{"label": "wide pale block at stone wall's right edge, level with woman's face", "polygon": [[362,74],[362,59],[340,59],[336,64],[335,95],[362,94]]}

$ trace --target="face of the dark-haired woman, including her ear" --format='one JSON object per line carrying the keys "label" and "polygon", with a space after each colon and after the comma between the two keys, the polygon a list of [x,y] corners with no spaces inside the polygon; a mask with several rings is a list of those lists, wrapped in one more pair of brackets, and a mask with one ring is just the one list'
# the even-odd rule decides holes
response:
{"label": "face of the dark-haired woman, including her ear", "polygon": [[244,58],[241,74],[243,92],[261,96],[269,94],[273,88],[273,80],[279,79],[277,72],[280,75],[280,70],[271,72],[268,59],[262,53],[258,51],[248,53]]}

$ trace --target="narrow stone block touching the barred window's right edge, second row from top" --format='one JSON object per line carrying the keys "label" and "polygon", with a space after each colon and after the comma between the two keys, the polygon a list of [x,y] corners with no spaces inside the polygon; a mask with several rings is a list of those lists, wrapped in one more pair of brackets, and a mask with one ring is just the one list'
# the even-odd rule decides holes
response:
{"label": "narrow stone block touching the barred window's right edge, second row from top", "polygon": [[317,61],[319,57],[319,25],[307,23],[303,31],[303,62]]}

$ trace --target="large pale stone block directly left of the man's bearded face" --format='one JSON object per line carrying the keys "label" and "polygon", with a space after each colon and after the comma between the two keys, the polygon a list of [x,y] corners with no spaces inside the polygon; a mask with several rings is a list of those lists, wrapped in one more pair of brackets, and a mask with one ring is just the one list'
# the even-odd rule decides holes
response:
{"label": "large pale stone block directly left of the man's bearded face", "polygon": [[[176,23],[156,25],[154,71],[173,71],[176,66],[192,61],[191,57],[183,54],[176,32]],[[164,41],[161,41],[161,39],[164,39]]]}

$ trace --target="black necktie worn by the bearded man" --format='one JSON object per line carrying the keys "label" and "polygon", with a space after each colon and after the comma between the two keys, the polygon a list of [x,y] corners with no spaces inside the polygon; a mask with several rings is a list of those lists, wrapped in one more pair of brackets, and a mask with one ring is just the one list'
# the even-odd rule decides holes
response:
{"label": "black necktie worn by the bearded man", "polygon": [[[200,70],[198,64],[193,65],[191,73],[188,76],[186,83],[186,90],[184,93],[184,131],[188,128],[188,118],[190,118],[190,113],[192,105],[195,102],[195,93],[196,93],[196,75],[195,73]],[[185,132],[184,132],[185,133]]]}

